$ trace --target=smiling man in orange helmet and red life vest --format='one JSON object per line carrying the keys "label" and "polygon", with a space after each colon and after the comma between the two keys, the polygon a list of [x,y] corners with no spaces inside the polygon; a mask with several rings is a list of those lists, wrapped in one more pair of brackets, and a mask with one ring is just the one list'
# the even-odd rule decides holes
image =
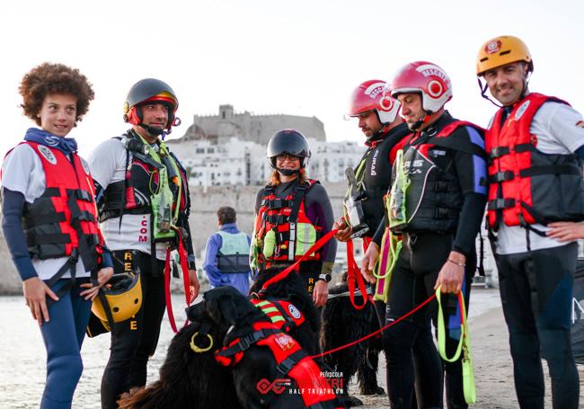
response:
{"label": "smiling man in orange helmet and red life vest", "polygon": [[553,407],[570,409],[580,398],[570,332],[574,238],[584,219],[584,122],[567,102],[529,92],[533,69],[517,37],[488,40],[479,50],[482,95],[490,99],[488,89],[500,102],[490,99],[500,110],[485,134],[488,221],[519,405],[544,407],[544,357]]}

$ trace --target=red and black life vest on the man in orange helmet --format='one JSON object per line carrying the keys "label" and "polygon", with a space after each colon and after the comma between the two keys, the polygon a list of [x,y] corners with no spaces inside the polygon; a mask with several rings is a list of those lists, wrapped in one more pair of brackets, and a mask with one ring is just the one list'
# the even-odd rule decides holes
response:
{"label": "red and black life vest on the man in orange helmet", "polygon": [[489,155],[489,225],[546,225],[584,219],[582,168],[576,155],[548,155],[537,150],[529,131],[544,102],[563,102],[531,93],[518,102],[501,124],[500,109],[486,131]]}

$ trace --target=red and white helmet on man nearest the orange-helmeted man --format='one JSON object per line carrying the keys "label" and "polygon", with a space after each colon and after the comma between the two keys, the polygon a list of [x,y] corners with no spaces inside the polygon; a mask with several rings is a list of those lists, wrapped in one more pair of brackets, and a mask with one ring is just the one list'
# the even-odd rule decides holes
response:
{"label": "red and white helmet on man nearest the orange-helmeted man", "polygon": [[452,98],[452,83],[447,73],[436,64],[416,61],[403,66],[394,76],[392,96],[421,93],[424,111],[436,112]]}

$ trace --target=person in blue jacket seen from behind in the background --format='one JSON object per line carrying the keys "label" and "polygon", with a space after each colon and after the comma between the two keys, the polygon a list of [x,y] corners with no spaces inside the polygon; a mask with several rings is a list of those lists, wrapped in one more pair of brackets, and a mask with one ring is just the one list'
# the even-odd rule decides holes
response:
{"label": "person in blue jacket seen from behind in the background", "polygon": [[232,286],[247,295],[250,289],[250,236],[237,229],[233,208],[217,210],[217,233],[209,236],[203,269],[211,288]]}

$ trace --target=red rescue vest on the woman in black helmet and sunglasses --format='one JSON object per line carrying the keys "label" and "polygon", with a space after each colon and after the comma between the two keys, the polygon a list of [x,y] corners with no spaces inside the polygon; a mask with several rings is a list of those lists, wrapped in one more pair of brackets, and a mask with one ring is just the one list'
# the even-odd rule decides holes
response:
{"label": "red rescue vest on the woman in black helmet and sunglasses", "polygon": [[[314,226],[305,214],[305,193],[318,181],[298,183],[284,199],[274,194],[274,187],[264,188],[261,206],[255,219],[251,264],[256,269],[286,267],[300,259],[322,235],[323,227]],[[320,262],[321,252],[305,258]],[[320,266],[315,266],[320,271]]]}

